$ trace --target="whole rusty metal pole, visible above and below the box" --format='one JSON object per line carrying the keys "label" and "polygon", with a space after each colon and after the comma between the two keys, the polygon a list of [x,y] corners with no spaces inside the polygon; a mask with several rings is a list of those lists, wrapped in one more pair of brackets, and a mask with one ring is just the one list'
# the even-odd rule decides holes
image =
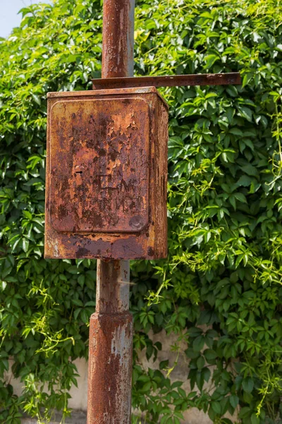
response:
{"label": "whole rusty metal pole, visible above and below the box", "polygon": [[[133,76],[134,0],[104,0],[102,78]],[[133,318],[129,261],[97,261],[90,318],[87,424],[130,424]]]}

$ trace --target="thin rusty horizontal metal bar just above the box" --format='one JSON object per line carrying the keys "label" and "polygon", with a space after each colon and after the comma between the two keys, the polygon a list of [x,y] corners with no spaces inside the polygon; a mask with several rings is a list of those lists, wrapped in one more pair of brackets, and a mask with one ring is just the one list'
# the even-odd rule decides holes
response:
{"label": "thin rusty horizontal metal bar just above the box", "polygon": [[102,88],[226,86],[241,84],[239,72],[198,73],[195,75],[130,76],[92,79],[93,90]]}

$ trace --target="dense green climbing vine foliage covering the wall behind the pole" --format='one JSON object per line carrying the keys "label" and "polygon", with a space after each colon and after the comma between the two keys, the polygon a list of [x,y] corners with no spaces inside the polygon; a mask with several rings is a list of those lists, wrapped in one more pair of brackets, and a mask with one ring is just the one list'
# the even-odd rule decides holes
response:
{"label": "dense green climbing vine foliage covering the wall behind the pole", "polygon": [[[72,360],[87,357],[95,261],[44,260],[46,93],[99,77],[102,6],[56,0],[23,8],[0,40],[0,422],[23,411],[67,416]],[[135,261],[133,405],[178,424],[191,406],[214,423],[281,423],[281,73],[278,0],[140,0],[135,72],[240,71],[243,86],[167,88],[167,261]],[[171,384],[149,331],[178,334],[191,391]],[[149,333],[152,334],[152,333]],[[185,352],[180,343],[187,344]],[[4,378],[8,358],[25,385]],[[209,382],[209,385],[205,385]],[[45,383],[45,384],[44,384]],[[47,394],[49,389],[49,394]],[[171,406],[173,407],[171,409]]]}

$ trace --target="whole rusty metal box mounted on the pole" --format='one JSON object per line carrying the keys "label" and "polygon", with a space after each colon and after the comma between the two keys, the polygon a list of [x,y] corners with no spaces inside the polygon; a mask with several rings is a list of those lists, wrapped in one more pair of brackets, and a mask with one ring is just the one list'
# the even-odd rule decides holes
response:
{"label": "whole rusty metal box mounted on the pole", "polygon": [[47,97],[45,257],[166,257],[168,108],[156,88]]}

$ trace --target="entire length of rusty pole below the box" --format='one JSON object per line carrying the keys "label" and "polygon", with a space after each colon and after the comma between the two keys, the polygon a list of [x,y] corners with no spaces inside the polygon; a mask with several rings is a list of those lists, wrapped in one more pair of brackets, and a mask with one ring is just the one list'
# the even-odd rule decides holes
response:
{"label": "entire length of rusty pole below the box", "polygon": [[129,261],[97,261],[90,318],[87,424],[130,424],[133,318]]}

